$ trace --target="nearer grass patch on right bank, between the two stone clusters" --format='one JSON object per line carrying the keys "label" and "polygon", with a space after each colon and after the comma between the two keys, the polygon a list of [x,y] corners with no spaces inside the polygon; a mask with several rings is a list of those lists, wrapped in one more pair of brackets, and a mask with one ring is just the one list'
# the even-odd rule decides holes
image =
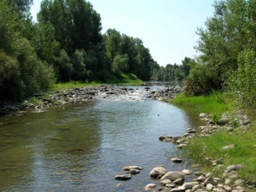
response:
{"label": "nearer grass patch on right bank, between the two stone clusters", "polygon": [[[186,153],[195,163],[206,165],[209,172],[221,176],[229,165],[243,164],[246,168],[239,171],[239,177],[247,183],[256,182],[256,126],[246,132],[242,128],[233,132],[221,131],[210,137],[195,137],[189,143]],[[225,146],[233,146],[224,149]],[[199,150],[200,149],[200,150]],[[221,159],[223,166],[207,166],[206,158]]]}

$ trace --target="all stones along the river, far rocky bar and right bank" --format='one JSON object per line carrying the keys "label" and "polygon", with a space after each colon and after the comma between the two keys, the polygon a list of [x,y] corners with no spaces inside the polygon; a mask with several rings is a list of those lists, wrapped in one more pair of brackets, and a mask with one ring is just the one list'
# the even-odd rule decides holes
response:
{"label": "all stones along the river, far rocky bar and right bank", "polygon": [[[129,87],[129,88],[127,88]],[[178,93],[182,91],[180,87],[175,86],[165,86],[162,90],[152,89],[150,86],[143,86],[145,92],[147,92],[147,98],[152,98],[153,100],[159,100],[167,102],[170,98],[174,98]],[[72,88],[67,90],[58,90],[46,92],[46,94],[35,94],[35,98],[38,100],[38,104],[32,104],[28,101],[23,103],[5,103],[3,107],[0,108],[1,112],[4,115],[23,115],[28,113],[42,113],[47,110],[49,107],[60,107],[73,103],[85,103],[92,100],[104,99],[108,96],[119,96],[123,94],[128,94],[133,92],[134,89],[130,86],[119,86],[119,85],[97,85],[97,86],[86,86],[82,88]],[[231,132],[233,129],[229,127],[229,117],[223,115],[220,119],[218,125],[214,124],[211,120],[211,117],[208,114],[200,114],[199,118],[203,122],[203,126],[199,126],[197,129],[188,129],[188,132],[185,132],[182,136],[160,136],[159,140],[163,142],[170,142],[177,145],[178,149],[185,149],[191,139],[194,136],[199,137],[208,137],[213,135],[215,132],[218,132],[221,129],[225,129],[227,132]],[[250,126],[251,122],[247,117],[240,116],[240,124],[245,127]],[[226,146],[228,149],[232,146]],[[188,157],[189,158],[189,157]],[[177,161],[177,163],[182,160],[177,158],[170,159],[170,161]],[[212,159],[209,158],[208,162],[214,167],[221,166],[223,160],[221,159]],[[159,185],[163,186],[158,188],[158,190],[168,189],[170,191],[234,191],[234,192],[243,192],[247,191],[243,188],[243,182],[241,179],[233,179],[234,174],[237,175],[237,170],[244,168],[245,165],[229,165],[225,168],[225,175],[229,176],[229,173],[232,173],[229,177],[232,179],[232,184],[225,183],[225,177],[223,178],[216,177],[212,172],[191,172],[186,169],[184,172],[166,172],[163,167],[156,167],[152,169],[152,172],[149,174],[152,178],[159,179]],[[199,168],[201,170],[201,168]],[[156,173],[155,173],[156,172]],[[167,175],[166,175],[167,174]],[[192,176],[196,178],[193,182],[184,183],[185,176]],[[224,173],[223,173],[224,174]],[[168,177],[171,175],[171,177]],[[125,177],[127,175],[124,175]],[[166,176],[163,177],[163,176]],[[163,179],[164,178],[164,179]],[[174,179],[175,178],[175,179]],[[121,177],[122,179],[122,177]],[[166,181],[167,179],[167,181]],[[165,180],[163,182],[163,180]],[[234,184],[236,183],[236,186]],[[238,184],[239,183],[239,184]],[[155,190],[152,183],[148,184],[149,186],[145,187],[145,190]],[[185,188],[184,188],[185,187]],[[193,190],[194,188],[194,190]],[[196,190],[197,189],[197,190]],[[252,190],[253,191],[253,190]]]}

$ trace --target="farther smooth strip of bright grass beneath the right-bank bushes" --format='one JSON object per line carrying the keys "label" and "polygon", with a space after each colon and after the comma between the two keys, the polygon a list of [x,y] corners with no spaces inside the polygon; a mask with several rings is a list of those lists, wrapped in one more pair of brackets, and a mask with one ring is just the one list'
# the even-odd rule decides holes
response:
{"label": "farther smooth strip of bright grass beneath the right-bank bushes", "polygon": [[232,108],[232,102],[227,100],[221,92],[213,92],[210,96],[185,96],[181,93],[171,102],[178,107],[194,110],[198,114],[221,114]]}

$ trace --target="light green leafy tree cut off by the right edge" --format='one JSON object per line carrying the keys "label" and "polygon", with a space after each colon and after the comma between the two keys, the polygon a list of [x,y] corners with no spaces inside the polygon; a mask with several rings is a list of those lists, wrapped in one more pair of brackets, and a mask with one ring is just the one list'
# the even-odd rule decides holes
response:
{"label": "light green leafy tree cut off by the right edge", "polygon": [[244,49],[238,55],[238,69],[229,78],[229,89],[243,107],[256,108],[256,2],[247,1],[244,13]]}

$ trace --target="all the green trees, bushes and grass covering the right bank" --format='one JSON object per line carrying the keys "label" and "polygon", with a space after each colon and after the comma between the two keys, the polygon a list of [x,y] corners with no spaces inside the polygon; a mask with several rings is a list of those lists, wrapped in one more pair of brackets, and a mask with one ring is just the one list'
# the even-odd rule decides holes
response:
{"label": "all the green trees, bushes and grass covering the right bank", "polygon": [[[197,30],[196,49],[201,54],[189,63],[185,93],[173,102],[196,111],[198,118],[200,113],[208,113],[214,122],[228,114],[232,129],[193,137],[181,154],[220,178],[229,165],[243,164],[238,179],[255,189],[256,2],[216,1],[214,16],[205,25]],[[240,125],[240,114],[247,114],[251,124]],[[224,150],[225,146],[232,147]],[[222,165],[213,167],[210,158],[221,160]]]}

